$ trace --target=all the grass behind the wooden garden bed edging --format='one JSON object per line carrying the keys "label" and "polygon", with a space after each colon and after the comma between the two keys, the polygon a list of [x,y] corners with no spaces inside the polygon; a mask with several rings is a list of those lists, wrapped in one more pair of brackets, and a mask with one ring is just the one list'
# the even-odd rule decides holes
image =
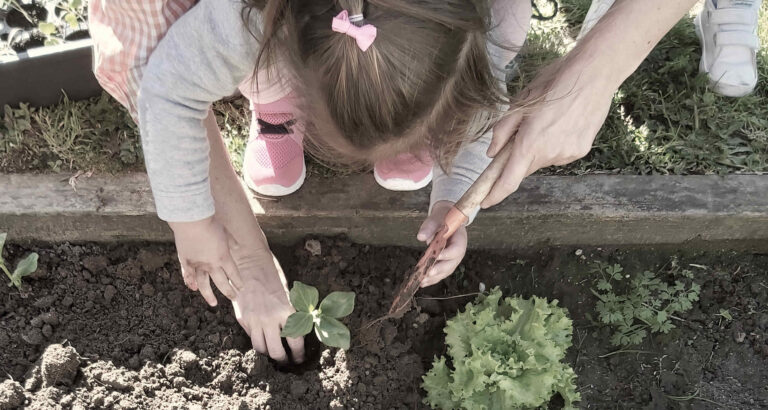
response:
{"label": "all the grass behind the wooden garden bed edging", "polygon": [[[543,1],[542,9],[546,14]],[[551,21],[535,22],[521,83],[574,44],[590,0],[560,0]],[[768,44],[768,5],[760,38]],[[758,55],[760,82],[751,96],[713,93],[698,74],[699,42],[692,15],[683,19],[619,89],[608,119],[585,159],[549,174],[727,174],[768,172],[768,49]],[[235,167],[242,166],[250,113],[243,99],[214,111]],[[116,173],[143,169],[138,132],[104,95],[48,108],[5,107],[0,123],[0,172]],[[310,161],[308,172],[338,175]]]}

